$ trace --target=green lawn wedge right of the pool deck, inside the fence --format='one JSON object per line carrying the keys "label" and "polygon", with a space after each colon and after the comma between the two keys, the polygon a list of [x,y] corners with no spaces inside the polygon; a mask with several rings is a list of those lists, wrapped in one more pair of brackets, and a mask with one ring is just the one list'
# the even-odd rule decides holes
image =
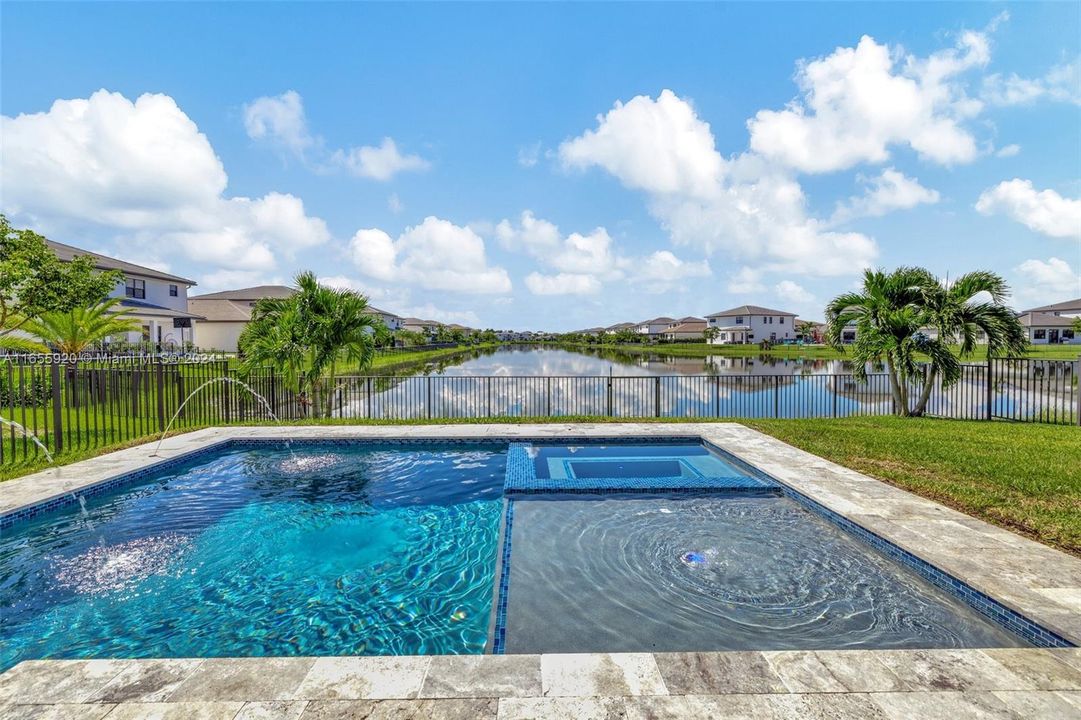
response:
{"label": "green lawn wedge right of the pool deck, inside the fence", "polygon": [[897,417],[740,422],[1081,556],[1077,427]]}

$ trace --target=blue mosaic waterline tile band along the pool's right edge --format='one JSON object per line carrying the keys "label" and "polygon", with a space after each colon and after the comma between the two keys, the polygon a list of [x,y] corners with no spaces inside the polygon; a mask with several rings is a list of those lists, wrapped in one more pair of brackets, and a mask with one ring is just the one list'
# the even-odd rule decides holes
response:
{"label": "blue mosaic waterline tile band along the pool's right edge", "polygon": [[802,507],[814,512],[818,517],[827,520],[837,528],[841,529],[845,533],[853,535],[867,545],[886,556],[894,562],[911,570],[917,575],[927,581],[940,590],[958,598],[970,608],[984,615],[988,619],[1001,625],[1014,635],[1019,636],[1022,639],[1032,643],[1038,648],[1075,648],[1076,645],[1062,637],[1057,632],[1053,632],[1047,628],[1043,627],[1039,623],[1028,618],[1027,616],[1018,613],[1011,608],[1005,606],[991,596],[986,592],[980,592],[976,588],[972,587],[967,583],[958,579],[953,575],[950,575],[940,568],[931,564],[926,560],[912,555],[908,550],[899,547],[882,537],[881,535],[875,533],[873,531],[867,530],[863,525],[853,522],[852,520],[845,518],[843,515],[830,510],[825,505],[808,497],[803,493],[792,489],[791,486],[785,484],[780,480],[777,480],[773,476],[764,472],[763,470],[750,465],[749,463],[736,457],[732,453],[718,448],[711,442],[703,440],[703,444],[712,450],[713,452],[720,454],[724,459],[731,462],[740,470],[746,470],[748,472],[755,474],[756,477],[763,479],[770,479],[777,483],[780,488],[782,493],[785,497],[788,497]]}

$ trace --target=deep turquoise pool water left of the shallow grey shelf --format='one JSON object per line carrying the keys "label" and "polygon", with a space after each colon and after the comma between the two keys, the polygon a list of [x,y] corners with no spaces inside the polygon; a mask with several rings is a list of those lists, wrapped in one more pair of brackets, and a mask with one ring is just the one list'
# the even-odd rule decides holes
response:
{"label": "deep turquoise pool water left of the shallow grey shelf", "polygon": [[480,653],[505,445],[241,448],[0,536],[39,657]]}

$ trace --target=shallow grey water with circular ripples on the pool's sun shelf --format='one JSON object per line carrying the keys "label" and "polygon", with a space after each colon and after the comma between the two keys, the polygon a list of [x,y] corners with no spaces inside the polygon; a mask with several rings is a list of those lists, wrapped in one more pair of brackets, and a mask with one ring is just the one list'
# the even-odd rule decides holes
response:
{"label": "shallow grey water with circular ripples on the pool's sun shelf", "polygon": [[531,496],[511,547],[508,653],[1024,644],[786,497]]}

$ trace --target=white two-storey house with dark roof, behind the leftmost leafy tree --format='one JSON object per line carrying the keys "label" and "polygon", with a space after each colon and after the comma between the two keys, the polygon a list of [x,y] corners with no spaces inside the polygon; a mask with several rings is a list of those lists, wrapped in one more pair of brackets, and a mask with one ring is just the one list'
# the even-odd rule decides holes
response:
{"label": "white two-storey house with dark roof, behind the leftmost leafy tree", "polygon": [[45,242],[56,257],[64,262],[70,262],[80,255],[89,256],[94,259],[97,269],[120,270],[123,274],[123,279],[109,293],[109,297],[120,298],[122,309],[118,315],[137,320],[142,328],[118,339],[164,346],[193,342],[197,321],[201,320],[197,312],[188,310],[188,288],[196,284],[195,280],[62,242]]}

